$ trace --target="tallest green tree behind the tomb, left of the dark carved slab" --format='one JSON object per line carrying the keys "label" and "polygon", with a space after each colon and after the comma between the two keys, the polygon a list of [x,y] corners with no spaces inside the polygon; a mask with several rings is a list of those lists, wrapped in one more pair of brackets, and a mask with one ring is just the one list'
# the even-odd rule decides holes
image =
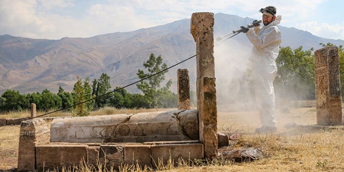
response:
{"label": "tallest green tree behind the tomb, left of the dark carved slab", "polygon": [[[144,67],[147,69],[148,72],[145,73],[143,70],[139,69],[137,75],[140,79],[146,78],[147,76],[166,70],[167,64],[163,63],[161,55],[155,57],[155,55],[151,53],[149,59],[144,63]],[[147,78],[146,80],[148,82],[146,80],[143,80],[140,83],[136,84],[137,88],[144,93],[145,99],[147,100],[149,107],[157,108],[158,106],[163,106],[160,103],[160,100],[166,97],[171,97],[172,92],[169,91],[172,84],[171,79],[166,83],[166,86],[160,88],[160,84],[162,81],[165,80],[165,74],[167,72],[168,70]]]}

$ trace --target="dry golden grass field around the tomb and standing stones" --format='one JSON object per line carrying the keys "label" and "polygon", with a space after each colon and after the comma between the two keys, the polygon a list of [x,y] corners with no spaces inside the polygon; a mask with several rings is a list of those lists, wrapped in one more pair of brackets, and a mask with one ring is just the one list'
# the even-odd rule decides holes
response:
{"label": "dry golden grass field around the tomb and standing stones", "polygon": [[[192,167],[167,166],[161,169],[166,172],[344,171],[344,127],[315,126],[315,107],[290,108],[287,110],[283,109],[283,111],[277,109],[276,117],[277,132],[255,133],[254,129],[260,126],[257,111],[230,111],[228,108],[219,106],[219,131],[224,133],[242,133],[242,137],[232,142],[232,146],[227,148],[257,147],[261,148],[267,156],[253,162],[234,163],[218,160],[208,165],[198,164]],[[286,126],[295,127],[286,128]],[[19,125],[0,127],[1,170],[16,168],[18,140]],[[124,168],[122,171],[131,172],[134,170]]]}

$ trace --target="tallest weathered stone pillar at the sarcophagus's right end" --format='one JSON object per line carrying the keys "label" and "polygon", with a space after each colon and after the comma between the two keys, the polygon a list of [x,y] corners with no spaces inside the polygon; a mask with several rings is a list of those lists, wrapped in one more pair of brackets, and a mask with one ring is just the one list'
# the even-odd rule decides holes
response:
{"label": "tallest weathered stone pillar at the sarcophagus's right end", "polygon": [[214,14],[194,13],[191,33],[197,46],[197,110],[199,139],[207,159],[218,155],[217,107],[214,64]]}

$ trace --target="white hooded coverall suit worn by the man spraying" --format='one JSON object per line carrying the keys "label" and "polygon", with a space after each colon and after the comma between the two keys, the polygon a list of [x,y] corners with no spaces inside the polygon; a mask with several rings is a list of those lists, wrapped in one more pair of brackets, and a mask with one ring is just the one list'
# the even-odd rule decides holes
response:
{"label": "white hooded coverall suit worn by the man spraying", "polygon": [[246,32],[253,44],[252,72],[260,120],[263,126],[270,127],[274,127],[276,123],[273,80],[277,73],[275,61],[282,41],[281,32],[277,28],[280,21],[281,16],[277,16],[269,25],[261,28],[255,26]]}

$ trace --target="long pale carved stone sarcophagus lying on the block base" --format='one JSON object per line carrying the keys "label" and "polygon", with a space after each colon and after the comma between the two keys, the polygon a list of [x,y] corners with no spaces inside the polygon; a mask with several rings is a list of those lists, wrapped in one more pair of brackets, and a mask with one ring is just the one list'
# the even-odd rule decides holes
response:
{"label": "long pale carved stone sarcophagus lying on the block base", "polygon": [[190,117],[182,125],[177,118],[180,112],[182,111],[55,119],[51,123],[51,142],[143,143],[195,140],[188,134],[198,130],[197,127],[186,131],[188,127],[184,125],[197,123],[197,118],[192,118],[197,112],[188,112]]}

